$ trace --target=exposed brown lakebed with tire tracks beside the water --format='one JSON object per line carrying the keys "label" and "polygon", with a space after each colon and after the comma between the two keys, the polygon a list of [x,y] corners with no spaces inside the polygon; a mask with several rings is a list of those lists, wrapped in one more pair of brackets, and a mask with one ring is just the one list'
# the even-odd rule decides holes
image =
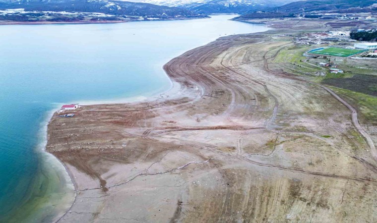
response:
{"label": "exposed brown lakebed with tire tracks beside the water", "polygon": [[291,44],[279,34],[301,29],[188,51],[164,66],[179,91],[157,100],[54,115],[47,151],[77,193],[60,222],[376,222],[373,142],[352,107],[268,68]]}

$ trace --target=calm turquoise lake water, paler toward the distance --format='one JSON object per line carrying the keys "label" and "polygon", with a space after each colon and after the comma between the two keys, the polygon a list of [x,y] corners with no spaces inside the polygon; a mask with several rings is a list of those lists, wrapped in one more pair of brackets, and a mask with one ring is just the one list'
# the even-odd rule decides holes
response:
{"label": "calm turquoise lake water, paler toward the distance", "polygon": [[168,90],[162,66],[170,59],[220,36],[268,29],[232,17],[0,26],[0,222],[50,222],[70,205],[63,166],[43,152],[51,111]]}

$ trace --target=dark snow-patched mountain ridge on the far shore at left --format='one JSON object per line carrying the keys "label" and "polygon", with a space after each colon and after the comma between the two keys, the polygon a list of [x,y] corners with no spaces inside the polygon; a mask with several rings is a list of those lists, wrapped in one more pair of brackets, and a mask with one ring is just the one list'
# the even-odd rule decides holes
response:
{"label": "dark snow-patched mountain ridge on the far shore at left", "polygon": [[99,12],[132,16],[197,16],[185,8],[117,0],[0,0],[0,9],[24,8],[26,11]]}

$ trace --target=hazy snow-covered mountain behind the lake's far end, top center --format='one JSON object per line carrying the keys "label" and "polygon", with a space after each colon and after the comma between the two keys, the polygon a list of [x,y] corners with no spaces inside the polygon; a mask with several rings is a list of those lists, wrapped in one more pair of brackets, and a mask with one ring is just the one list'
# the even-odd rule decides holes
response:
{"label": "hazy snow-covered mountain behind the lake's far end, top center", "polygon": [[157,5],[186,8],[197,13],[244,13],[271,6],[279,6],[294,0],[131,0]]}

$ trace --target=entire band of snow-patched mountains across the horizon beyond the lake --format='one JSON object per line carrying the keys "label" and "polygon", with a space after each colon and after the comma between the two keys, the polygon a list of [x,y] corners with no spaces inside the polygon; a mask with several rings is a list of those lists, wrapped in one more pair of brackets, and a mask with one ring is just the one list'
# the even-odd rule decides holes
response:
{"label": "entire band of snow-patched mountains across the horizon beyond the lake", "polygon": [[[132,2],[130,2],[132,1]],[[20,20],[46,19],[49,11],[103,13],[115,15],[102,17],[109,19],[175,19],[206,17],[211,13],[239,13],[243,14],[235,20],[252,18],[284,18],[294,14],[304,14],[315,18],[316,13],[338,12],[377,12],[376,0],[0,0],[0,9],[22,8],[24,11],[44,11],[41,16],[27,15],[13,11],[8,15],[3,11],[0,20],[17,17]],[[374,5],[373,5],[374,4]],[[372,6],[373,5],[373,6]],[[55,14],[55,16],[57,16]],[[61,17],[64,18],[61,18]],[[93,14],[59,15],[58,19],[82,19],[82,16],[98,19]],[[102,15],[103,16],[103,15]],[[128,17],[127,17],[128,16]],[[134,16],[131,18],[130,16]],[[139,16],[137,18],[137,16]],[[38,17],[38,18],[36,18]],[[41,18],[44,17],[44,18]],[[149,18],[147,18],[149,17]],[[150,18],[151,17],[151,18]],[[86,18],[87,19],[87,18]],[[10,19],[11,20],[11,19]]]}

